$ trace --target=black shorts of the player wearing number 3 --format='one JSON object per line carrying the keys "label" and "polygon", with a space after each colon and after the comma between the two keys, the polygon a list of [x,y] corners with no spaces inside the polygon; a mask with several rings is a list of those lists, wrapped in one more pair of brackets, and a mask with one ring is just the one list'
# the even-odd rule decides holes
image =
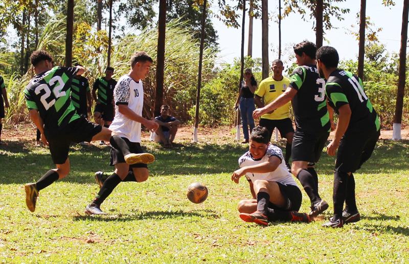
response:
{"label": "black shorts of the player wearing number 3", "polygon": [[329,136],[328,131],[312,134],[296,131],[292,139],[291,159],[292,161],[308,161],[316,163],[320,160],[325,143]]}

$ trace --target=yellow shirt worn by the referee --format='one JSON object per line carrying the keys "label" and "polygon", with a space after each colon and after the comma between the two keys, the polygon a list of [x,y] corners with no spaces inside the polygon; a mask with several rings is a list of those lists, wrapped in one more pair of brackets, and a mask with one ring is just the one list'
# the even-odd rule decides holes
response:
{"label": "yellow shirt worn by the referee", "polygon": [[[290,80],[284,76],[281,81],[276,81],[272,77],[268,77],[260,82],[260,85],[254,94],[260,97],[264,97],[264,104],[267,105],[268,103],[274,101],[282,93],[284,93],[289,84]],[[283,106],[277,108],[274,112],[272,112],[272,114],[262,115],[261,118],[271,120],[288,118],[290,113],[290,103],[291,102],[288,102]]]}

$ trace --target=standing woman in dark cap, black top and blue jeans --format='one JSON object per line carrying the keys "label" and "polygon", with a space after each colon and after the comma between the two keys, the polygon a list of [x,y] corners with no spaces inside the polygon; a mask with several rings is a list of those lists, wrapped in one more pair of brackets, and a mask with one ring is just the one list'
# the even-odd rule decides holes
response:
{"label": "standing woman in dark cap, black top and blue jeans", "polygon": [[235,105],[235,109],[237,109],[237,106],[240,107],[244,135],[244,141],[241,143],[243,144],[248,143],[248,126],[250,126],[250,132],[254,128],[253,111],[256,109],[254,106],[254,92],[256,92],[256,89],[256,79],[254,79],[252,70],[247,68],[244,71],[244,81],[241,81],[240,93]]}

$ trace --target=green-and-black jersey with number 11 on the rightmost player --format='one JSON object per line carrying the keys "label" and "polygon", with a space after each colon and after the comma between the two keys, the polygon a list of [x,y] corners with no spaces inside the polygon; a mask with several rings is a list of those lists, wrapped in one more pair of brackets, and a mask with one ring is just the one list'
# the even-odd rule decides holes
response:
{"label": "green-and-black jersey with number 11 on the rightmost player", "polygon": [[335,70],[327,80],[325,93],[329,105],[336,113],[340,106],[349,104],[352,113],[346,133],[379,130],[379,117],[365,94],[359,77],[344,70]]}

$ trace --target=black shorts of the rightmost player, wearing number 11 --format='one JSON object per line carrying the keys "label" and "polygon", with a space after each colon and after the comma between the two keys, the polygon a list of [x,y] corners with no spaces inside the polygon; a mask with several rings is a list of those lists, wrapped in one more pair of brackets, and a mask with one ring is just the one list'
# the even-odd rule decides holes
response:
{"label": "black shorts of the rightmost player, wearing number 11", "polygon": [[372,155],[376,142],[380,136],[379,131],[370,133],[347,133],[339,142],[336,153],[335,170],[342,172],[355,172]]}

